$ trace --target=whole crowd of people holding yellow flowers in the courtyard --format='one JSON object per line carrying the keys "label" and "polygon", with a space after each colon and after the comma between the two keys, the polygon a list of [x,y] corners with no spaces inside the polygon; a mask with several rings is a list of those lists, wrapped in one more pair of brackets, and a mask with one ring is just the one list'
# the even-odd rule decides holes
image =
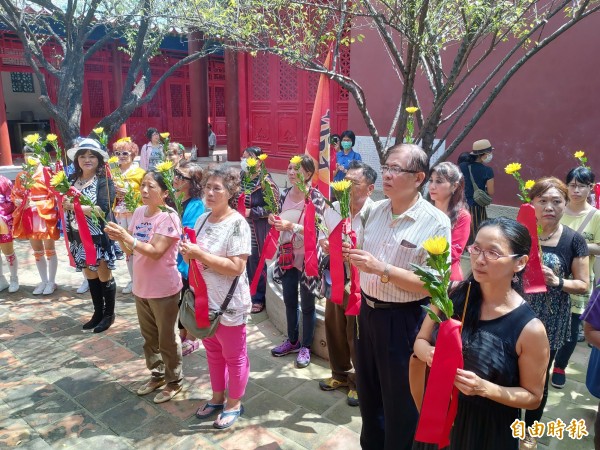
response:
{"label": "whole crowd of people holding yellow flowers in the courtyard", "polygon": [[[130,278],[123,292],[135,298],[150,371],[137,393],[162,388],[154,402],[171,400],[184,383],[183,357],[196,351],[201,340],[212,397],[196,415],[201,420],[215,418],[215,428],[228,428],[244,412],[250,373],[246,323],[251,313],[265,309],[266,265],[261,255],[274,229],[279,240],[273,279],[282,285],[287,338],[271,354],[297,354],[297,368],[310,364],[315,304],[325,297],[331,377],[320,381],[320,388],[347,388],[347,403],[360,408],[362,448],[426,449],[434,447],[414,441],[419,409],[411,395],[409,365],[416,358],[431,366],[438,325],[422,308],[430,303],[429,292],[413,265],[427,264],[423,243],[441,236],[450,245],[449,295],[456,318],[463,320],[464,368],[454,380],[460,394],[449,448],[536,448],[533,436],[516,439],[510,426],[522,415],[528,426],[540,421],[549,383],[562,388],[566,382],[580,315],[592,292],[594,256],[600,254],[600,213],[588,203],[595,183],[591,169],[576,167],[565,182],[538,179],[529,190],[547,292],[528,294],[522,274],[532,246],[529,231],[512,219],[487,219],[494,193],[493,170],[486,166],[493,154],[488,140],[476,141],[458,165],[442,162],[433,167],[420,147],[395,145],[378,174],[353,149],[352,131],[334,135],[332,145],[340,148],[333,176],[350,183],[349,222],[357,245],[333,248],[333,232],[343,220],[341,200],[329,204],[313,187],[312,158],[298,155],[290,161],[289,187],[280,191],[262,170],[258,147],[244,150],[240,173],[188,161],[177,143],[165,151],[155,129],[147,136],[139,165],[134,162],[135,143],[115,143],[118,181],[107,176],[109,153],[98,141],[83,139],[68,150],[74,169],[69,182],[93,204],[82,207],[85,223],[76,217],[69,197],[57,204],[44,183],[41,164],[33,173],[35,183],[27,186],[20,176],[14,188],[0,177],[0,250],[10,271],[7,280],[0,263],[0,290],[19,289],[15,238],[28,239],[35,256],[40,284],[33,294],[49,295],[56,289],[55,241],[62,207],[70,258],[84,273],[92,299],[93,314],[83,329],[101,333],[114,324],[112,271],[125,257]],[[36,160],[31,152],[26,158]],[[165,160],[173,167],[172,185],[161,170]],[[373,201],[379,175],[386,198]],[[134,211],[125,207],[131,190],[141,201]],[[277,211],[268,207],[265,190],[275,199]],[[179,212],[173,192],[182,202]],[[244,208],[239,208],[239,199]],[[305,229],[309,206],[319,223],[318,233]],[[86,233],[94,248],[92,258]],[[309,244],[316,250],[310,254]],[[472,269],[466,277],[461,269],[465,251]],[[344,258],[341,304],[331,301],[333,252],[342,252]],[[315,255],[317,275],[307,270]],[[186,293],[200,295],[197,271],[192,270],[196,267],[209,310],[220,311],[214,334],[200,339],[178,323]],[[359,274],[358,315],[346,314],[351,268]],[[257,288],[251,294],[255,278]],[[598,328],[593,325],[586,322],[586,334],[595,343]]]}

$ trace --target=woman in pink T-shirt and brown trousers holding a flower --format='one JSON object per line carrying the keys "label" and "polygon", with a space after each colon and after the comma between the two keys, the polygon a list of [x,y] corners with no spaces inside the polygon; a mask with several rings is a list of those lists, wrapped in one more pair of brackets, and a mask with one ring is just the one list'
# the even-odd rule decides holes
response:
{"label": "woman in pink T-shirt and brown trousers holding a flower", "polygon": [[163,403],[181,391],[183,379],[181,340],[176,332],[182,287],[177,245],[182,230],[178,215],[165,209],[169,186],[164,172],[146,173],[140,190],[143,206],[133,213],[129,229],[109,222],[106,232],[133,255],[133,271],[144,274],[134,277],[133,295],[146,367],[152,376],[137,394],[147,395],[165,386],[154,397],[154,403]]}

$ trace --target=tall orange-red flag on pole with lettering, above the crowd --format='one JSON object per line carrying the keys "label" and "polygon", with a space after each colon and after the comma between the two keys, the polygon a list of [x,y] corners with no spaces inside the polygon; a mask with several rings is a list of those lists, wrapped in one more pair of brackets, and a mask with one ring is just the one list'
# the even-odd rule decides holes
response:
{"label": "tall orange-red flag on pole with lettering, above the crowd", "polygon": [[[330,64],[331,50],[327,53],[324,65],[330,68]],[[329,168],[330,133],[329,78],[327,75],[321,74],[304,153],[313,159],[315,167],[317,167],[317,176],[312,179],[313,187],[319,189],[326,199],[329,199],[329,185],[331,183]]]}

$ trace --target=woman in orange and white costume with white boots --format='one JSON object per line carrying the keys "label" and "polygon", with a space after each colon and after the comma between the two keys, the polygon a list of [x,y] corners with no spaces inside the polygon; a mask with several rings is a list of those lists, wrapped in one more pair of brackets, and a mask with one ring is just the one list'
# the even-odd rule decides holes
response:
{"label": "woman in orange and white costume with white boots", "polygon": [[[56,197],[46,185],[43,166],[33,152],[39,136],[27,136],[25,170],[17,174],[12,191],[13,237],[28,239],[33,250],[35,265],[41,278],[34,295],[50,295],[56,289],[58,258],[54,242],[60,238]],[[45,256],[45,257],[44,257]]]}

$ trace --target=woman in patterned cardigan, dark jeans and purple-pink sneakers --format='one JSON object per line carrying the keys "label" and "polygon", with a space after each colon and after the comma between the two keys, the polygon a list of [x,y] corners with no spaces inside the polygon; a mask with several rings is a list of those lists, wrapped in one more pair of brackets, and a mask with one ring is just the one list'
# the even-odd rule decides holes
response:
{"label": "woman in patterned cardigan, dark jeans and purple-pink sneakers", "polygon": [[[292,187],[281,193],[281,214],[270,215],[269,223],[281,232],[274,279],[283,285],[283,301],[287,319],[288,338],[271,349],[273,356],[298,353],[296,367],[310,364],[310,347],[315,334],[315,299],[320,290],[319,277],[308,276],[305,270],[304,214],[307,200],[315,205],[316,217],[323,217],[325,199],[311,187],[315,164],[307,155],[294,156],[288,165],[287,176]],[[316,243],[316,233],[315,233]],[[299,338],[298,285],[302,310],[302,340]]]}

